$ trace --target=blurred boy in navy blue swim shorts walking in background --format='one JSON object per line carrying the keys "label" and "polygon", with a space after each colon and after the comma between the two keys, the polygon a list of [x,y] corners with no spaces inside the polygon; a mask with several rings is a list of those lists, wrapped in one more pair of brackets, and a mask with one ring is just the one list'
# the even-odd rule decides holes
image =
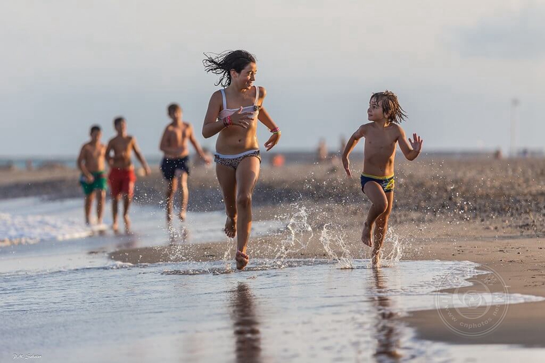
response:
{"label": "blurred boy in navy blue swim shorts walking in background", "polygon": [[187,190],[187,176],[189,176],[189,148],[187,147],[187,140],[191,141],[198,155],[203,158],[205,163],[210,164],[211,159],[208,155],[205,155],[201,149],[201,145],[195,139],[193,126],[182,120],[183,110],[181,107],[176,103],[172,103],[168,106],[167,110],[172,122],[165,128],[159,149],[165,153],[161,162],[161,171],[168,182],[166,193],[167,223],[171,227],[173,200],[174,194],[178,189],[178,180],[180,181],[181,188],[179,217],[182,222],[185,220],[187,212],[187,199],[189,198],[189,191]]}

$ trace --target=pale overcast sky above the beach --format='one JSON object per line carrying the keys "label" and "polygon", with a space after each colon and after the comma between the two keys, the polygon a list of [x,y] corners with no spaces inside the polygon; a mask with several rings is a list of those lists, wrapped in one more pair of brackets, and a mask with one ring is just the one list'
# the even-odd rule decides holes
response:
{"label": "pale overcast sky above the beach", "polygon": [[213,149],[202,53],[239,48],[257,56],[278,150],[338,149],[384,89],[428,150],[507,151],[512,97],[518,145],[543,149],[543,19],[545,2],[523,0],[2,1],[0,156],[75,155],[117,115],[159,155],[170,102]]}

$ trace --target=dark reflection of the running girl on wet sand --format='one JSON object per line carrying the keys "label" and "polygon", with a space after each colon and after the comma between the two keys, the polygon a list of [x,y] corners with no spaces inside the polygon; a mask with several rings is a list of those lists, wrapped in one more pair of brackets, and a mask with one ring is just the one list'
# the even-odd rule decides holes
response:
{"label": "dark reflection of the running girl on wet sand", "polygon": [[250,286],[239,282],[231,291],[231,317],[235,335],[237,363],[261,361],[261,332],[255,310],[255,297]]}

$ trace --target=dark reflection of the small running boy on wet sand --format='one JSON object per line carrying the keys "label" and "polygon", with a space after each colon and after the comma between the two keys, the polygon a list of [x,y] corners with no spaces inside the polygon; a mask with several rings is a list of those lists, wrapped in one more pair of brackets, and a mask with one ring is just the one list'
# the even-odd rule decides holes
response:
{"label": "dark reflection of the small running boy on wet sand", "polygon": [[374,357],[377,362],[398,361],[402,355],[397,352],[399,348],[399,336],[396,321],[396,313],[391,308],[391,300],[387,296],[386,279],[379,268],[373,268],[375,291],[373,305],[377,310],[376,338],[377,349]]}

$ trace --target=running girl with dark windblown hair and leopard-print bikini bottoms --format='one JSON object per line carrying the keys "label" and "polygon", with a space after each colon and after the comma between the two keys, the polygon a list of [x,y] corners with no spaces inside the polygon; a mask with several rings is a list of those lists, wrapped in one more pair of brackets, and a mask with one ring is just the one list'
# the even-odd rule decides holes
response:
{"label": "running girl with dark windblown hair and leopard-print bikini bottoms", "polygon": [[227,214],[225,233],[229,238],[237,235],[235,260],[240,270],[249,262],[246,246],[252,225],[252,193],[261,163],[257,121],[271,132],[265,143],[267,151],[280,140],[280,128],[263,107],[265,88],[253,85],[257,65],[252,54],[238,50],[205,55],[206,71],[221,75],[216,85],[224,89],[210,97],[202,132],[205,138],[219,134],[214,158],[216,175]]}

